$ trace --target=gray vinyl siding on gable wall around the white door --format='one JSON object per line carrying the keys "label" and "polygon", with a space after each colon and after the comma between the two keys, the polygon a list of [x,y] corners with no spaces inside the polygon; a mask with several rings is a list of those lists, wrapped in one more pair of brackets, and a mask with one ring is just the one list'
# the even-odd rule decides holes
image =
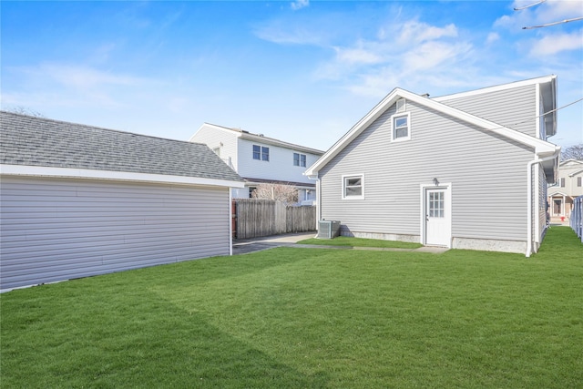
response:
{"label": "gray vinyl siding on gable wall around the white door", "polygon": [[[387,109],[321,171],[322,218],[343,231],[420,235],[420,185],[452,183],[452,236],[526,241],[533,150],[407,101],[411,139],[391,142]],[[364,175],[364,200],[342,200],[343,175]]]}

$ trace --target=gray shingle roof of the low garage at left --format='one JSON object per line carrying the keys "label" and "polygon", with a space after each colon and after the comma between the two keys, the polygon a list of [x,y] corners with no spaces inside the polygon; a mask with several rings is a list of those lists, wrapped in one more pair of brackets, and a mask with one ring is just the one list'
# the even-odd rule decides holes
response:
{"label": "gray shingle roof of the low garage at left", "polygon": [[242,181],[206,145],[0,111],[5,165]]}

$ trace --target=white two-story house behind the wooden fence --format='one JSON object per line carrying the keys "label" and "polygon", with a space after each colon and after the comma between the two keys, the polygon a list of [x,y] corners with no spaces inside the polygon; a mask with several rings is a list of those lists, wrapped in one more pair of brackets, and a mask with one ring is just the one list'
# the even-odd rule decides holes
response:
{"label": "white two-story house behind the wooden fence", "polygon": [[262,183],[288,184],[298,189],[298,201],[312,204],[316,184],[303,175],[324,153],[238,128],[204,123],[189,139],[208,145],[245,179],[245,188],[233,189],[233,198],[249,199]]}

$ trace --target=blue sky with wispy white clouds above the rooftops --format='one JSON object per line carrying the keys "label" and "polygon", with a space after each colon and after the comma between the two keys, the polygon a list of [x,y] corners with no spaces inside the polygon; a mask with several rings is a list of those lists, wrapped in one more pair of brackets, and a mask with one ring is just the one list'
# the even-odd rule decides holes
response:
{"label": "blue sky with wispy white clouds above the rooftops", "polygon": [[[555,74],[583,97],[583,1],[2,1],[1,104],[188,140],[203,122],[327,149],[394,87]],[[558,112],[583,142],[583,102]]]}

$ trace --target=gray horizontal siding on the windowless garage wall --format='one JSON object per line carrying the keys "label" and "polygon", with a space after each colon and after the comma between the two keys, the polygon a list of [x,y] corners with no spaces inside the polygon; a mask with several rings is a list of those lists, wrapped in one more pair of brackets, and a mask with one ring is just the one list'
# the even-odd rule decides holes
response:
{"label": "gray horizontal siding on the windowless garage wall", "polygon": [[4,176],[0,289],[229,255],[227,188]]}

